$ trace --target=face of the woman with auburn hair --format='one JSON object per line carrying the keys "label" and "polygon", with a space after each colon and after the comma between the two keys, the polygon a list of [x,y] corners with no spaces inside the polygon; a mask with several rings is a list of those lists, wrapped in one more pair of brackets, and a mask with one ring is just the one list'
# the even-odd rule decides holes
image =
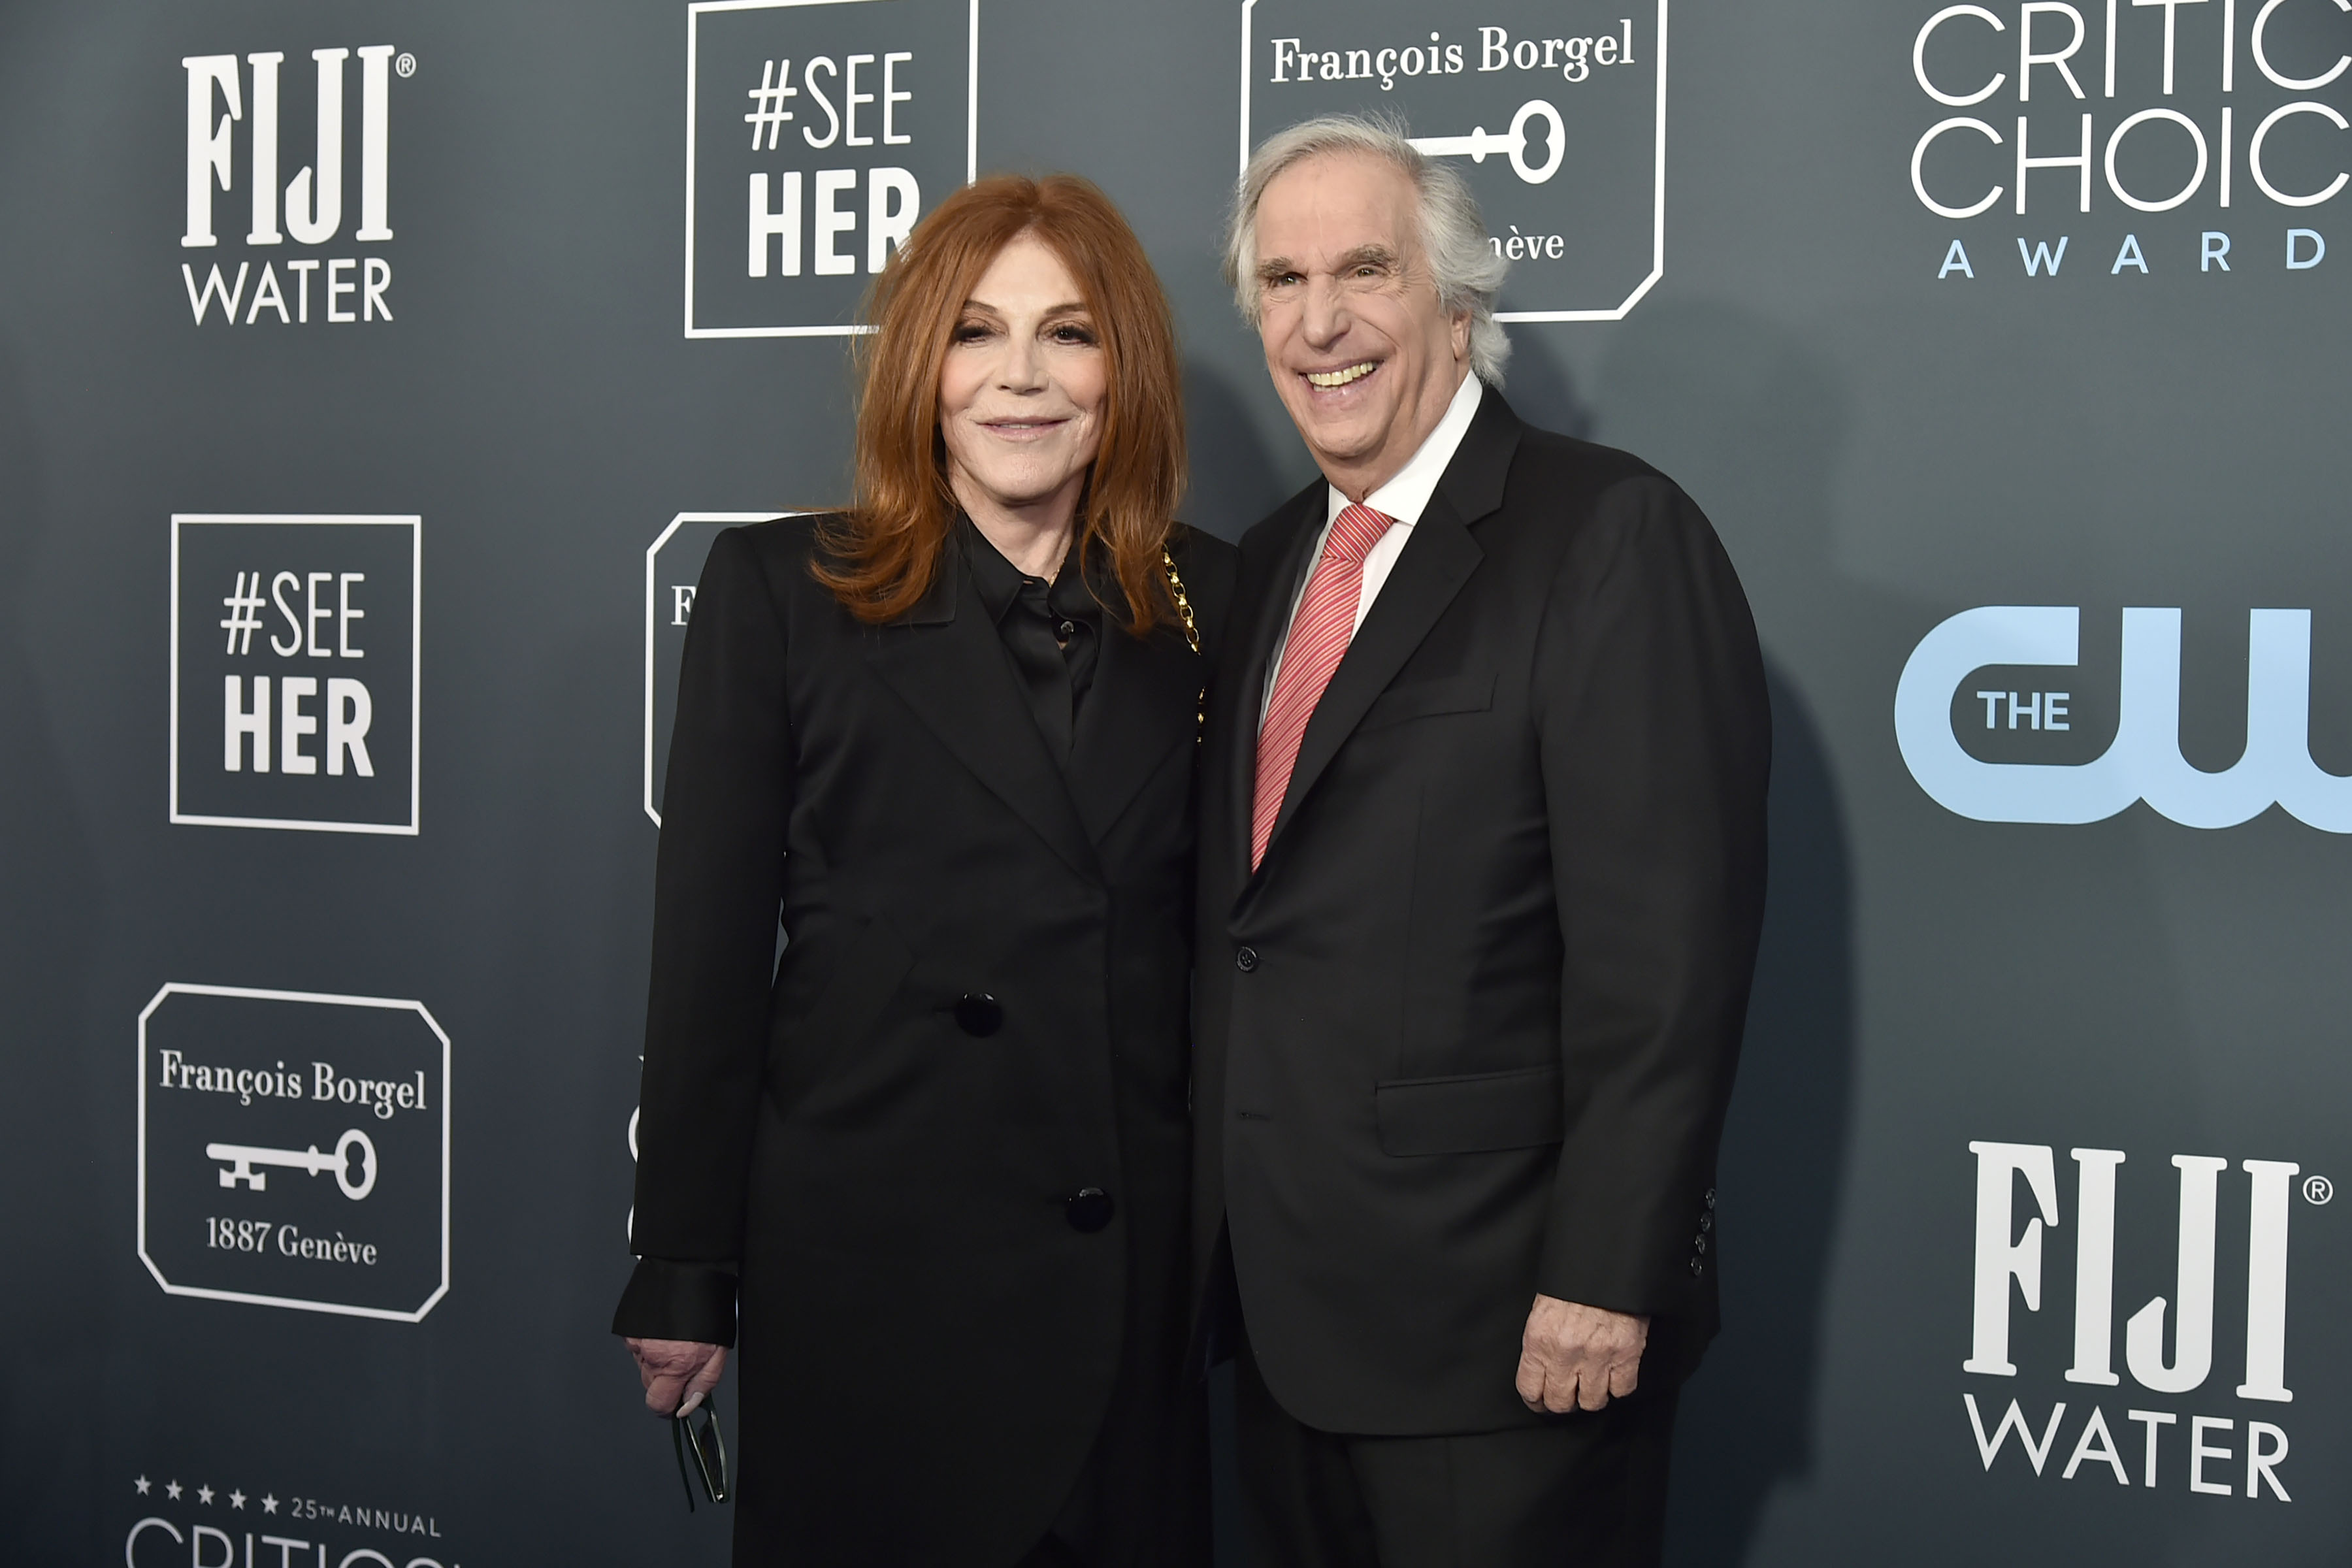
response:
{"label": "face of the woman with auburn hair", "polygon": [[[1110,371],[1070,268],[1014,237],[964,301],[938,371],[948,487],[964,510],[1077,508]],[[1061,522],[1061,520],[1056,520]]]}

